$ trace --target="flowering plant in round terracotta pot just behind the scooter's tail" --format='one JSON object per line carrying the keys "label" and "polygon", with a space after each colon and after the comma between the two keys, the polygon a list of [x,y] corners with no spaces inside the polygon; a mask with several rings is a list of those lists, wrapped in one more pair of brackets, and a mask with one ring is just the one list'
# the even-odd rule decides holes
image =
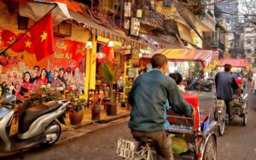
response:
{"label": "flowering plant in round terracotta pot just behind the scooter's tail", "polygon": [[79,99],[79,89],[69,91],[67,98],[70,100],[68,104],[68,117],[72,125],[82,123],[84,118],[84,107],[87,106],[86,100]]}

